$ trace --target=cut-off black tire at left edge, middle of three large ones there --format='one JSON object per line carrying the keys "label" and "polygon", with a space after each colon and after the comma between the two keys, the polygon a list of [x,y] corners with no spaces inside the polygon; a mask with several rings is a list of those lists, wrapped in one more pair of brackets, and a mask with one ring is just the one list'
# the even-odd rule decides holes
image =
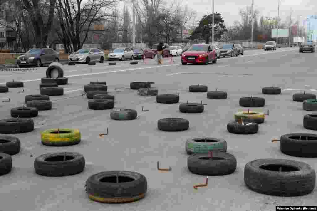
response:
{"label": "cut-off black tire at left edge, middle of three large ones there", "polygon": [[20,152],[21,142],[18,138],[8,135],[0,135],[0,152],[15,155]]}

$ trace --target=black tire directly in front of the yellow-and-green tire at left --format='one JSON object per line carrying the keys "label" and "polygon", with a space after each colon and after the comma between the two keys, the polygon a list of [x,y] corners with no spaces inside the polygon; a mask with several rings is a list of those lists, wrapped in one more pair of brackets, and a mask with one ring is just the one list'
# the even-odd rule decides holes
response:
{"label": "black tire directly in front of the yellow-and-green tire at left", "polygon": [[[64,160],[65,159],[65,160]],[[76,152],[54,152],[34,160],[36,174],[47,177],[64,177],[84,171],[85,158]]]}

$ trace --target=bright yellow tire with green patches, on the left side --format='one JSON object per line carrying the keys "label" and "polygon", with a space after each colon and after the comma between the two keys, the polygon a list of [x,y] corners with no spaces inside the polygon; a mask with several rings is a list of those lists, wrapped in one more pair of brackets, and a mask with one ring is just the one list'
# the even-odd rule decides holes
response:
{"label": "bright yellow tire with green patches, on the left side", "polygon": [[81,133],[78,129],[48,129],[41,133],[42,144],[46,146],[70,146],[78,144]]}

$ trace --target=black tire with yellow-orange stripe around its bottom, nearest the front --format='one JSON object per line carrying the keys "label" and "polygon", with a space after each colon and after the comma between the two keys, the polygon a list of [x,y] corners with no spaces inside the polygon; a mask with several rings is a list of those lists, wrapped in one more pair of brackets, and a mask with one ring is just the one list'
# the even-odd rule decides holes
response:
{"label": "black tire with yellow-orange stripe around its bottom, nearest the front", "polygon": [[146,190],[146,177],[132,171],[104,171],[90,176],[86,182],[88,197],[96,202],[134,202],[143,198]]}

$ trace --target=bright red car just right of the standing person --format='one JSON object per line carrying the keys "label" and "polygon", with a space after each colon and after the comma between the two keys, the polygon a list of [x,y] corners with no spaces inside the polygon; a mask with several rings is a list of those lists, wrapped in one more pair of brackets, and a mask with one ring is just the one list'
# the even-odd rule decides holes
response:
{"label": "bright red car just right of the standing person", "polygon": [[192,45],[182,54],[182,65],[186,65],[187,63],[208,65],[211,61],[213,64],[217,62],[216,49],[208,44]]}

